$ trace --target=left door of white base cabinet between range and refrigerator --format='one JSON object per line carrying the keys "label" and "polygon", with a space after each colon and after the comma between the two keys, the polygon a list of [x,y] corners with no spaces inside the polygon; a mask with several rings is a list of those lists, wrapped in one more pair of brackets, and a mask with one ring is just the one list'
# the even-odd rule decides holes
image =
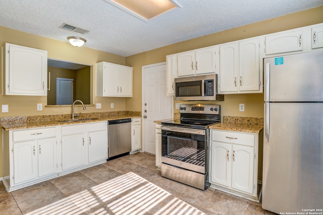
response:
{"label": "left door of white base cabinet between range and refrigerator", "polygon": [[231,144],[211,142],[211,182],[230,187]]}

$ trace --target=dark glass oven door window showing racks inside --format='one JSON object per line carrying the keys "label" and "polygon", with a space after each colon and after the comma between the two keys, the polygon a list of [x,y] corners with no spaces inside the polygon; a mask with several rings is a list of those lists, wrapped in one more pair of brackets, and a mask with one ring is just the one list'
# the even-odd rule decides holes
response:
{"label": "dark glass oven door window showing racks inside", "polygon": [[161,156],[205,166],[205,135],[161,131]]}

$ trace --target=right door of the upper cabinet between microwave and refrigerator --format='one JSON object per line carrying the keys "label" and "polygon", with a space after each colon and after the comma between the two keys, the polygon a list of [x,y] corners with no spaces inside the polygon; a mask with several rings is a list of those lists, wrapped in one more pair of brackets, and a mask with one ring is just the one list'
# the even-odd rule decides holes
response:
{"label": "right door of the upper cabinet between microwave and refrigerator", "polygon": [[239,91],[259,90],[259,39],[239,42]]}

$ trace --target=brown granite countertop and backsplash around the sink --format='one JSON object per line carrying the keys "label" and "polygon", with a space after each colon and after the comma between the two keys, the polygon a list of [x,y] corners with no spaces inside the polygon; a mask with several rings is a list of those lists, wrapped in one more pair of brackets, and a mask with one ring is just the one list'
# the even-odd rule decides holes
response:
{"label": "brown granite countertop and backsplash around the sink", "polygon": [[[141,112],[117,111],[117,112],[97,112],[97,113],[81,113],[77,118],[92,119],[87,121],[75,122],[60,122],[71,119],[71,114],[63,115],[41,115],[41,116],[27,116],[27,117],[3,117],[0,118],[1,127],[8,130],[39,128],[47,126],[69,125],[79,123],[100,122],[108,120],[120,120],[127,118],[141,117]],[[77,119],[75,118],[75,119]]]}

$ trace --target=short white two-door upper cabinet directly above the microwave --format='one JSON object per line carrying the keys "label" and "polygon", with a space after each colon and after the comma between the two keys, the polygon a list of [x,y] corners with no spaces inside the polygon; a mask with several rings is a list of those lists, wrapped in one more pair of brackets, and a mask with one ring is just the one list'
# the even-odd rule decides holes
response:
{"label": "short white two-door upper cabinet directly above the microwave", "polygon": [[216,72],[215,48],[210,46],[177,55],[177,76],[192,76]]}

